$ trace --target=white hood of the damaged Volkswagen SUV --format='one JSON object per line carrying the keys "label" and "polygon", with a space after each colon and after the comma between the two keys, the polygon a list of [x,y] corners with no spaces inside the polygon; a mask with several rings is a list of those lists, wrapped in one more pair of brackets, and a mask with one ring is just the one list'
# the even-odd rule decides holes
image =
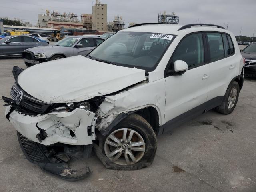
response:
{"label": "white hood of the damaged Volkswagen SUV", "polygon": [[115,66],[83,56],[36,64],[18,76],[31,96],[48,103],[66,103],[104,96],[145,80],[145,70]]}

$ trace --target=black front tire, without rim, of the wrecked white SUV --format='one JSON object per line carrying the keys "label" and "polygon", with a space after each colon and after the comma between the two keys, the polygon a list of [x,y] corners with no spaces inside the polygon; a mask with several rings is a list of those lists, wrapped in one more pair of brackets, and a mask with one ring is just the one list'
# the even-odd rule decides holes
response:
{"label": "black front tire, without rim, of the wrecked white SUV", "polygon": [[[144,156],[135,164],[131,164],[131,165],[115,164],[111,162],[110,159],[108,159],[105,154],[104,144],[106,139],[108,138],[108,135],[110,135],[115,130],[118,130],[121,128],[129,128],[129,129],[135,130],[144,139],[144,142],[145,142]],[[146,166],[150,166],[152,164],[154,157],[156,155],[156,148],[157,148],[156,134],[152,129],[152,127],[150,126],[150,124],[144,118],[142,118],[142,116],[138,114],[130,114],[127,118],[125,118],[119,124],[117,124],[109,132],[109,134],[99,138],[99,146],[102,149],[102,153],[105,159],[107,159],[106,162],[103,162],[106,168],[110,168],[114,170],[137,170],[137,169],[144,168]]]}

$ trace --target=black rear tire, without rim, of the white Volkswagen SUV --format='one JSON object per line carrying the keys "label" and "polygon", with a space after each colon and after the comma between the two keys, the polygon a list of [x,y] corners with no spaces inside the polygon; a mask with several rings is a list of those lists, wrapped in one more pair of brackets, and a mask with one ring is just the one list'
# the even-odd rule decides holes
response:
{"label": "black rear tire, without rim, of the white Volkswagen SUV", "polygon": [[[237,90],[237,93],[236,93],[236,101],[234,103],[234,106],[232,106],[232,108],[228,108],[228,98],[230,96],[230,92],[233,88],[236,88]],[[224,100],[222,101],[222,104],[218,107],[216,107],[216,111],[221,113],[221,114],[225,114],[225,115],[228,115],[230,113],[233,112],[234,108],[236,107],[236,104],[237,104],[237,101],[238,101],[238,97],[239,97],[239,92],[240,92],[240,87],[239,87],[239,84],[238,82],[236,81],[233,81],[229,84],[227,90],[226,90],[226,93],[224,95]]]}

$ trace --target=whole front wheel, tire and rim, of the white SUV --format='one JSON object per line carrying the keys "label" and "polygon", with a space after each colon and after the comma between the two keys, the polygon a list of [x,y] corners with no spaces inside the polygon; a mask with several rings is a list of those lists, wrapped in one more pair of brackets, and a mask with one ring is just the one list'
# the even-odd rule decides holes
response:
{"label": "whole front wheel, tire and rim, of the white SUV", "polygon": [[130,114],[100,142],[114,169],[136,170],[152,164],[156,155],[156,135],[138,114]]}

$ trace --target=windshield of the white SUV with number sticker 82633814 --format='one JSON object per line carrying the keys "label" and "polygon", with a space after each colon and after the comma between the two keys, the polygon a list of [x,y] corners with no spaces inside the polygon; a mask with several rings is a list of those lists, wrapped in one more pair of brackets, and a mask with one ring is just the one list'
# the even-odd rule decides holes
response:
{"label": "windshield of the white SUV with number sticker 82633814", "polygon": [[96,47],[88,57],[110,64],[154,70],[174,35],[118,32]]}

